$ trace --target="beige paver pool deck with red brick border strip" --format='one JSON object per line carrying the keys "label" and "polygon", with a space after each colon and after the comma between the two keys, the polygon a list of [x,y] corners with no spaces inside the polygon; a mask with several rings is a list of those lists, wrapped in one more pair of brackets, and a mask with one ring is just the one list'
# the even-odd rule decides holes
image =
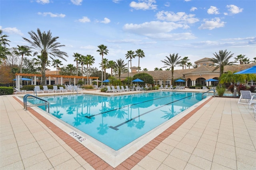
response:
{"label": "beige paver pool deck with red brick border strip", "polygon": [[113,167],[16,96],[24,94],[0,96],[1,170],[256,169],[256,121],[238,98],[209,97]]}

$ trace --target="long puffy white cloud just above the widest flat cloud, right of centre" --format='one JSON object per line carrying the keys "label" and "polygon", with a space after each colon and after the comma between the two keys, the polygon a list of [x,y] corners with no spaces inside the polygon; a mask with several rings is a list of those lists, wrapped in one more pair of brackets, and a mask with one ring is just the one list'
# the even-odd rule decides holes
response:
{"label": "long puffy white cloud just above the widest flat cloud, right of centre", "polygon": [[186,14],[185,12],[165,12],[160,11],[156,14],[158,20],[170,21],[170,22],[180,22],[193,24],[198,22],[198,18],[194,18],[194,14]]}

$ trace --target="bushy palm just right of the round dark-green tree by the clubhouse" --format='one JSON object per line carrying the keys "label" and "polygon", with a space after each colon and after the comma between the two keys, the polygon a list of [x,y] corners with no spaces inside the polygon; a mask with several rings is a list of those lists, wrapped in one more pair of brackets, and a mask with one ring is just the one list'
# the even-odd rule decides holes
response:
{"label": "bushy palm just right of the round dark-green tree by the clubhouse", "polygon": [[176,55],[173,53],[172,55],[170,54],[170,57],[165,56],[167,59],[165,60],[161,60],[164,65],[164,67],[169,67],[172,69],[172,85],[174,84],[174,79],[173,79],[173,72],[174,72],[174,67],[176,67],[177,65],[180,64],[180,62],[182,61],[180,58],[181,56],[178,56],[178,53],[176,53]]}

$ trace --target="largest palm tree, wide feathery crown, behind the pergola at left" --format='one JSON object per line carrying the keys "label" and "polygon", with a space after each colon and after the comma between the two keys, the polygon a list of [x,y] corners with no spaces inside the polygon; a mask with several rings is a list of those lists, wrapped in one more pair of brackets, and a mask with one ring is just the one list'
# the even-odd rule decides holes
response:
{"label": "largest palm tree, wide feathery crown, behind the pergola at left", "polygon": [[32,40],[22,37],[25,41],[32,45],[32,49],[35,50],[34,56],[40,53],[41,62],[42,62],[42,84],[46,85],[45,81],[45,66],[48,61],[48,57],[52,60],[52,57],[59,57],[64,61],[67,61],[63,56],[68,57],[68,54],[64,51],[60,51],[60,47],[65,45],[60,45],[59,42],[56,42],[59,37],[52,37],[50,30],[46,32],[41,32],[40,29],[37,29],[37,34],[33,31],[28,32]]}

